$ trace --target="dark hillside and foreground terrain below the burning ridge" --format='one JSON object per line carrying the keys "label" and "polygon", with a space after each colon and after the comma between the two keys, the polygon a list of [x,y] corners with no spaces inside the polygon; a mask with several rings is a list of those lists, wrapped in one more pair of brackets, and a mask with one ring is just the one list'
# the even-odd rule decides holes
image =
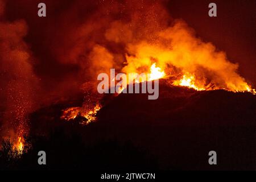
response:
{"label": "dark hillside and foreground terrain below the burning ridge", "polygon": [[[98,121],[81,126],[60,119],[82,100],[31,114],[32,147],[1,169],[255,170],[256,96],[224,90],[196,92],[160,81],[158,100],[147,94],[107,96]],[[38,165],[38,151],[47,165]],[[208,152],[217,152],[217,165]]]}

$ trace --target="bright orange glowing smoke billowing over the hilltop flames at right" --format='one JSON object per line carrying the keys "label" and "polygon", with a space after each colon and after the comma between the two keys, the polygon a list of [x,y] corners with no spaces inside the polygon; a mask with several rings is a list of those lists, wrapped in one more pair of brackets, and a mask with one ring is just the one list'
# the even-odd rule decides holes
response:
{"label": "bright orange glowing smoke billowing over the hilltop flames at right", "polygon": [[173,26],[155,32],[155,39],[128,44],[126,66],[122,71],[141,73],[156,63],[157,69],[164,73],[158,78],[172,77],[172,85],[255,93],[238,75],[238,65],[231,63],[212,43],[196,38],[185,22],[177,20]]}

